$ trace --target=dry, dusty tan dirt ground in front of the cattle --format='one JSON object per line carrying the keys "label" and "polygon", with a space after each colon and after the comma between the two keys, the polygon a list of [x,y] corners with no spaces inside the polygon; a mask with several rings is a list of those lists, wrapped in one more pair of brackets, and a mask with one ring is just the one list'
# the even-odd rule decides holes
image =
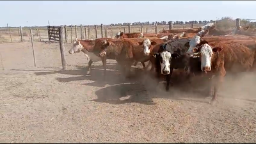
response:
{"label": "dry, dusty tan dirt ground in front of the cattle", "polygon": [[[255,76],[227,77],[218,102],[154,80],[133,68],[125,80],[108,60],[86,76],[84,54],[68,54],[61,70],[58,43],[0,44],[1,143],[255,143]],[[3,70],[4,68],[4,70]],[[185,87],[186,88],[186,87]],[[253,94],[254,93],[254,94]]]}

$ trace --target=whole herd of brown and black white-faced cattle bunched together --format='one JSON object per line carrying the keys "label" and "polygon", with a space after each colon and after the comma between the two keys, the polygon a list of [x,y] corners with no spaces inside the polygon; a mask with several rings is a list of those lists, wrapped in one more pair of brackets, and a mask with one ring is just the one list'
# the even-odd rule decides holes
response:
{"label": "whole herd of brown and black white-faced cattle bunched together", "polygon": [[209,84],[207,96],[212,97],[209,103],[213,104],[226,74],[256,69],[256,34],[248,26],[222,31],[209,23],[198,29],[162,29],[159,34],[118,32],[115,38],[76,39],[68,52],[84,52],[90,58],[87,74],[92,63],[101,60],[104,76],[107,59],[116,60],[125,77],[138,61],[145,70],[145,62],[150,61],[150,74],[159,82],[165,77],[166,91],[175,70],[186,74],[188,84],[192,84],[191,77],[204,77]]}

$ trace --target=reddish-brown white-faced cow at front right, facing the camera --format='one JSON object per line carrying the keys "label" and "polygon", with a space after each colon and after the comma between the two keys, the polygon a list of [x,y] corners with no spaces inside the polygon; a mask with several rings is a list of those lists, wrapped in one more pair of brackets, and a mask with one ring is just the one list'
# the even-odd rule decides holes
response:
{"label": "reddish-brown white-faced cow at front right, facing the camera", "polygon": [[211,42],[212,48],[206,40],[202,40],[193,49],[194,56],[200,56],[201,70],[211,78],[214,87],[211,103],[217,99],[218,87],[223,82],[226,71],[237,73],[255,70],[256,51],[243,44],[227,44],[225,42]]}

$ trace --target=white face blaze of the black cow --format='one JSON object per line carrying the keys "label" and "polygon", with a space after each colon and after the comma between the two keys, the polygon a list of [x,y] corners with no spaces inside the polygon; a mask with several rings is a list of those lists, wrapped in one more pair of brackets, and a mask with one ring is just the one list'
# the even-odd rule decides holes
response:
{"label": "white face blaze of the black cow", "polygon": [[170,65],[172,54],[168,51],[161,52],[160,54],[160,65],[161,65],[161,74],[167,75],[170,74]]}

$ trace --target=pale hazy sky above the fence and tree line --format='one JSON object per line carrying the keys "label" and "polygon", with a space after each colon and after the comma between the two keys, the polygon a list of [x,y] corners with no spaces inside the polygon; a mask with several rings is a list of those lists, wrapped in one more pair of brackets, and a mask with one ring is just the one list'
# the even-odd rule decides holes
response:
{"label": "pale hazy sky above the fence and tree line", "polygon": [[256,19],[256,1],[0,1],[0,27]]}

